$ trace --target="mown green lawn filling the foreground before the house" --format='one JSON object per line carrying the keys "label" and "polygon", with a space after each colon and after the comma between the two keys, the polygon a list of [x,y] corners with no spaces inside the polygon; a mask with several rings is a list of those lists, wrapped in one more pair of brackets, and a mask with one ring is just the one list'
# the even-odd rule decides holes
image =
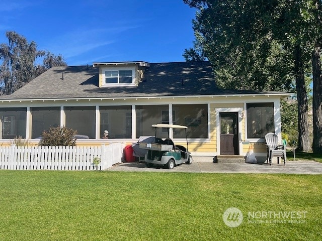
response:
{"label": "mown green lawn filling the foreground before the house", "polygon": [[[0,240],[322,236],[322,175],[2,170],[0,186]],[[223,222],[229,207],[243,213],[237,227]],[[295,217],[265,215],[281,212]]]}

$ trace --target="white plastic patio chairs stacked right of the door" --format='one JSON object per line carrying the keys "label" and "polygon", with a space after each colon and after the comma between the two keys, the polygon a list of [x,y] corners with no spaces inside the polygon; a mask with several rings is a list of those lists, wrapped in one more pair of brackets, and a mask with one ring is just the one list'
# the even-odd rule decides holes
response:
{"label": "white plastic patio chairs stacked right of the door", "polygon": [[274,133],[267,133],[265,135],[266,145],[268,147],[267,159],[272,165],[272,158],[277,157],[277,164],[279,164],[280,158],[283,158],[284,165],[286,160],[286,148],[284,145],[278,144],[278,137]]}

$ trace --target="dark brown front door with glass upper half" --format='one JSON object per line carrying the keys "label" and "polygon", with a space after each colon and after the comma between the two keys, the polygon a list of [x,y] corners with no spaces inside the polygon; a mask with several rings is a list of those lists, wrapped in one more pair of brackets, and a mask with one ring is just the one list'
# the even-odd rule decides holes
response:
{"label": "dark brown front door with glass upper half", "polygon": [[220,117],[220,155],[238,155],[238,113],[223,112]]}

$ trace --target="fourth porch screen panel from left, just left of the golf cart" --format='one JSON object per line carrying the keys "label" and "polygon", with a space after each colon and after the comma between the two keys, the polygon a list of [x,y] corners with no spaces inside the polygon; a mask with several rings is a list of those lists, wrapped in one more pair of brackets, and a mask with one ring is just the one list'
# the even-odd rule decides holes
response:
{"label": "fourth porch screen panel from left, just left of the golf cart", "polygon": [[131,106],[99,106],[100,109],[100,138],[104,131],[109,132],[110,138],[132,138],[132,107]]}

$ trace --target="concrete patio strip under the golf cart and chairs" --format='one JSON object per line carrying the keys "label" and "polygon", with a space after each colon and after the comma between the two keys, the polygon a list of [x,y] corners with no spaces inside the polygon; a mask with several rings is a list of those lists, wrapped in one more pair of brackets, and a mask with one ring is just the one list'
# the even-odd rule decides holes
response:
{"label": "concrete patio strip under the golf cart and chairs", "polygon": [[196,172],[196,173],[286,173],[286,174],[322,174],[322,163],[314,161],[287,161],[277,164],[248,164],[248,163],[212,163],[193,162],[191,165],[182,164],[172,170],[165,167],[146,167],[142,162],[116,164],[110,171],[129,172]]}

